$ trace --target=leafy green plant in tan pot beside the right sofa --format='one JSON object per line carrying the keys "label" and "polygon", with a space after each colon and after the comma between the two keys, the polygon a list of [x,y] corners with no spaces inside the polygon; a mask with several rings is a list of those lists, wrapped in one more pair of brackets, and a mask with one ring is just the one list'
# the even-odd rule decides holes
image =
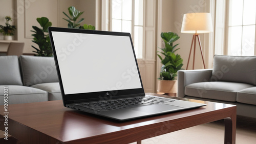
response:
{"label": "leafy green plant in tan pot beside the right sofa", "polygon": [[180,49],[177,48],[179,44],[173,45],[173,43],[178,40],[180,37],[176,33],[167,32],[161,33],[161,38],[164,41],[165,47],[160,48],[165,57],[162,58],[161,55],[157,54],[161,63],[160,77],[158,78],[158,89],[157,92],[161,93],[177,93],[177,72],[181,70],[183,66],[183,60],[179,54],[175,52]]}

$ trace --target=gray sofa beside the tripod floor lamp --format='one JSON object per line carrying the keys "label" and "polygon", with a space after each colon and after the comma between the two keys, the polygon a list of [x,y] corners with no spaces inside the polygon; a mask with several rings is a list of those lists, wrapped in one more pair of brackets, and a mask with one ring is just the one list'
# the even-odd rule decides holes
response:
{"label": "gray sofa beside the tripod floor lamp", "polygon": [[215,55],[213,69],[178,71],[177,96],[234,104],[256,118],[256,56]]}

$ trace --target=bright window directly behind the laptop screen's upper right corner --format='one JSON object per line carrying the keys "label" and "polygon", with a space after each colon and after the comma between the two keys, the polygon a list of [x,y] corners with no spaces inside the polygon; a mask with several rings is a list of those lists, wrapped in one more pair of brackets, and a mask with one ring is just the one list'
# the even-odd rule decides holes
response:
{"label": "bright window directly behind the laptop screen's upper right corner", "polygon": [[143,58],[143,0],[112,0],[110,31],[131,33],[137,59]]}

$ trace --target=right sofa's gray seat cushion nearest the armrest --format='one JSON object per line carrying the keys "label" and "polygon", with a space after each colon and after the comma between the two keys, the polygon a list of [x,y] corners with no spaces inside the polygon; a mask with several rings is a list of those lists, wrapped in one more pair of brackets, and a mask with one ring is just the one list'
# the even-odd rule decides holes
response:
{"label": "right sofa's gray seat cushion nearest the armrest", "polygon": [[188,84],[185,87],[185,95],[235,102],[237,92],[246,88],[254,87],[247,83],[211,81]]}

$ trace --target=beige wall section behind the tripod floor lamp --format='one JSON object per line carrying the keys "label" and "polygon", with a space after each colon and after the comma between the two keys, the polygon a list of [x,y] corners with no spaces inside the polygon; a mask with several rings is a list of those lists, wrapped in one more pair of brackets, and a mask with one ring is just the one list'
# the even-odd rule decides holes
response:
{"label": "beige wall section behind the tripod floor lamp", "polygon": [[[174,32],[180,36],[180,39],[176,41],[176,44],[179,43],[180,49],[177,51],[183,59],[183,69],[186,69],[189,50],[191,46],[191,40],[193,38],[193,34],[184,34],[181,33],[181,25],[183,15],[185,13],[194,13],[194,12],[209,12],[209,1],[210,0],[159,0],[159,11],[158,11],[158,47],[163,47],[162,39],[160,38],[161,32]],[[203,53],[204,53],[204,60],[206,68],[210,68],[208,66],[207,60],[209,56],[207,54],[208,48],[208,35],[209,34],[200,34],[200,39],[202,43]],[[207,38],[207,39],[205,39]],[[200,53],[200,48],[198,42],[196,43],[196,58],[195,58],[195,69],[202,69],[203,62],[202,56]],[[206,52],[206,53],[205,53]],[[157,77],[161,68],[161,64],[157,58]],[[192,69],[193,66],[193,52],[190,56],[190,62],[188,64],[188,69]]]}

